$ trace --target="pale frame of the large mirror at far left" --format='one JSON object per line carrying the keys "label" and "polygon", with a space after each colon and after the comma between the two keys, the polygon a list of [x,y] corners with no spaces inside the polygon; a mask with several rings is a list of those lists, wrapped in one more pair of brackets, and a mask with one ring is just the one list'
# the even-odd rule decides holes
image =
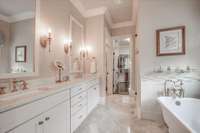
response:
{"label": "pale frame of the large mirror at far left", "polygon": [[39,76],[39,22],[40,22],[40,0],[35,0],[35,45],[33,49],[33,72],[28,73],[1,73],[1,79],[15,79],[25,77],[36,77]]}

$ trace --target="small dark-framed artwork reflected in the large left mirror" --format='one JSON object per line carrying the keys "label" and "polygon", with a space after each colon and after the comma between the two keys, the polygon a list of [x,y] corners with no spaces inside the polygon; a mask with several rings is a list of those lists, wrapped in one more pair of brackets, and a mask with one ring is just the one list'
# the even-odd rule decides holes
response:
{"label": "small dark-framed artwork reflected in the large left mirror", "polygon": [[15,62],[26,62],[26,46],[15,47]]}

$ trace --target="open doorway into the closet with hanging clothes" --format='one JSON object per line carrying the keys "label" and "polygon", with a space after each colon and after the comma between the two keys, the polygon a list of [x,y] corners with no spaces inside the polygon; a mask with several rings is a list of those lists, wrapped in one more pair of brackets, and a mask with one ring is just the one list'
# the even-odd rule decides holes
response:
{"label": "open doorway into the closet with hanging clothes", "polygon": [[113,94],[131,93],[131,44],[130,36],[113,39]]}

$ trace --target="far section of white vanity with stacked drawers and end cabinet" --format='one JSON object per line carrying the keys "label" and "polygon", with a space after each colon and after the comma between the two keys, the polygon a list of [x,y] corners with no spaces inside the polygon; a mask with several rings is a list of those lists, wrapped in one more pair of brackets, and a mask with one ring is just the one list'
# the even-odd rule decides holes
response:
{"label": "far section of white vanity with stacked drawers and end cabinet", "polygon": [[71,133],[81,125],[99,102],[99,82],[92,80],[71,88]]}

